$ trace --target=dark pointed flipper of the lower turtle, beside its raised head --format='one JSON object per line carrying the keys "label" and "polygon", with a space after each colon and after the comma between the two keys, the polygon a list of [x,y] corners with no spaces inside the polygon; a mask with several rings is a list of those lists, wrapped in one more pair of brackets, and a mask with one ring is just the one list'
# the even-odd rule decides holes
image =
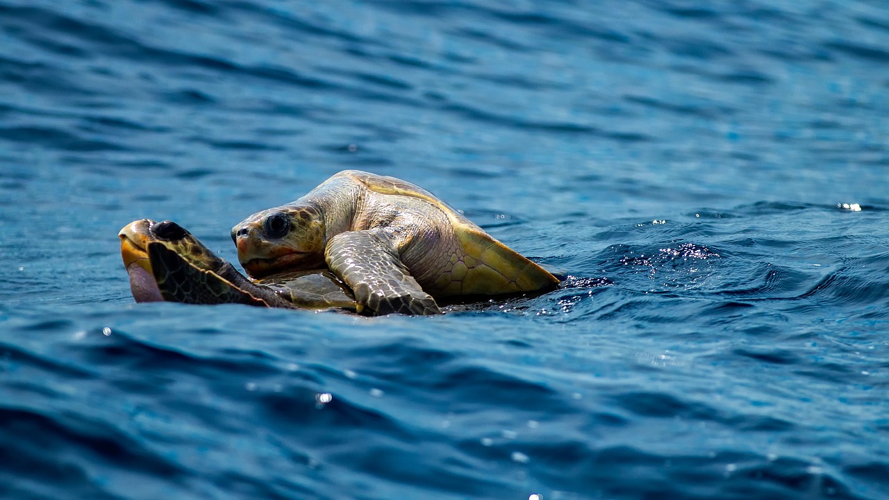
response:
{"label": "dark pointed flipper of the lower turtle, beside its raised head", "polygon": [[[159,243],[148,244],[148,258],[157,287],[165,301],[192,304],[243,303],[260,307],[286,307],[274,292],[235,286],[212,270],[203,270]],[[258,286],[253,286],[259,288]],[[263,296],[265,295],[265,296]],[[277,301],[275,300],[277,299]]]}

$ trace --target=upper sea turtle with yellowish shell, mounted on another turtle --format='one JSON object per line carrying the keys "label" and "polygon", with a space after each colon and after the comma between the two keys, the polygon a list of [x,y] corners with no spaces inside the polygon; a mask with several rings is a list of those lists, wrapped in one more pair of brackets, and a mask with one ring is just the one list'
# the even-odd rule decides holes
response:
{"label": "upper sea turtle with yellowish shell, mounted on another turtle", "polygon": [[414,184],[346,170],[231,230],[247,274],[325,263],[378,314],[439,312],[435,298],[530,292],[558,279]]}

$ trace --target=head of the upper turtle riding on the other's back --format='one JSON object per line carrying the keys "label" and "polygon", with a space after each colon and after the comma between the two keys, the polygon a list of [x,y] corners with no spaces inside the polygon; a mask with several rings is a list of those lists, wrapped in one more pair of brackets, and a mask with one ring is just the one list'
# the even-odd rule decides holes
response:
{"label": "head of the upper turtle riding on the other's back", "polygon": [[324,266],[324,215],[316,206],[285,205],[252,214],[232,228],[231,238],[252,278]]}

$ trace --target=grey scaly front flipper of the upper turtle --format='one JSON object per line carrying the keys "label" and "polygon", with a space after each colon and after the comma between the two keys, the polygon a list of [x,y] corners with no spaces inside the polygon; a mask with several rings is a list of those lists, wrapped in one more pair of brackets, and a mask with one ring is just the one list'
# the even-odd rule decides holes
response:
{"label": "grey scaly front flipper of the upper turtle", "polygon": [[347,231],[333,237],[324,251],[330,269],[355,293],[359,304],[376,314],[438,314],[427,294],[398,258],[395,247],[376,230]]}

